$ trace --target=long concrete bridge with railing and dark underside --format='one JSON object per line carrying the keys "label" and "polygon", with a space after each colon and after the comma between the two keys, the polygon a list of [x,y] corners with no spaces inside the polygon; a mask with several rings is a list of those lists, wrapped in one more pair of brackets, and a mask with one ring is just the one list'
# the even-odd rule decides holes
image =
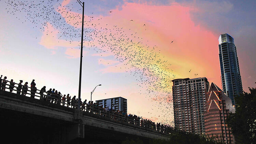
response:
{"label": "long concrete bridge with railing and dark underside", "polygon": [[[170,139],[173,128],[147,124],[120,113],[0,79],[2,141],[8,143],[121,143],[128,139]],[[18,87],[17,87],[18,86]],[[16,88],[16,90],[15,90]],[[30,89],[30,90],[29,90]],[[16,92],[16,93],[15,93]],[[21,93],[21,94],[20,94]],[[62,103],[61,103],[62,102]]]}

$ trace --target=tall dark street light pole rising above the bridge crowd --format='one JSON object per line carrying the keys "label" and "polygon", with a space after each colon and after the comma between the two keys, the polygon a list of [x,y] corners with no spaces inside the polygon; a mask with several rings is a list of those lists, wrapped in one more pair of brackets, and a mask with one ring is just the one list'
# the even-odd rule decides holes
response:
{"label": "tall dark street light pole rising above the bridge crowd", "polygon": [[[78,90],[78,107],[80,110],[81,101],[81,78],[82,78],[82,57],[83,57],[83,35],[84,35],[84,2],[77,0],[79,4],[83,7],[83,17],[82,17],[82,37],[81,37],[81,56],[80,56],[80,73],[79,73],[79,90]],[[83,5],[82,5],[83,3]]]}

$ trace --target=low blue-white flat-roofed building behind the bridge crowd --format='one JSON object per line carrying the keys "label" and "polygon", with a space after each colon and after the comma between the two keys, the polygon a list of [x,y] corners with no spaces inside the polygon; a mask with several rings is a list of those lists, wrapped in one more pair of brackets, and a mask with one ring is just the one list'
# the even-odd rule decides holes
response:
{"label": "low blue-white flat-roofed building behind the bridge crowd", "polygon": [[127,113],[127,99],[122,97],[109,98],[104,100],[96,100],[99,105],[103,105],[103,107],[109,107],[114,110],[120,110]]}

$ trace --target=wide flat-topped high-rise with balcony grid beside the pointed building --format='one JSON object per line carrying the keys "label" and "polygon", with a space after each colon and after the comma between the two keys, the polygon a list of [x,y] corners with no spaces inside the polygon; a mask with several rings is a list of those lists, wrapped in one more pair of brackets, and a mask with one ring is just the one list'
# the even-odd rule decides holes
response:
{"label": "wide flat-topped high-rise with balcony grid beside the pointed building", "polygon": [[204,134],[205,92],[209,82],[205,77],[172,80],[175,128]]}

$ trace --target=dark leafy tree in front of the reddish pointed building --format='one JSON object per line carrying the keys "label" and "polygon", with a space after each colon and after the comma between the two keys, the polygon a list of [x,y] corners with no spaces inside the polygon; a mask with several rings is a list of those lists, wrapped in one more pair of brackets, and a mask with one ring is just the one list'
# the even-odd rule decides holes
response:
{"label": "dark leafy tree in front of the reddish pointed building", "polygon": [[227,117],[237,144],[254,144],[256,142],[256,89],[250,88],[250,93],[243,92],[235,96],[236,113]]}

